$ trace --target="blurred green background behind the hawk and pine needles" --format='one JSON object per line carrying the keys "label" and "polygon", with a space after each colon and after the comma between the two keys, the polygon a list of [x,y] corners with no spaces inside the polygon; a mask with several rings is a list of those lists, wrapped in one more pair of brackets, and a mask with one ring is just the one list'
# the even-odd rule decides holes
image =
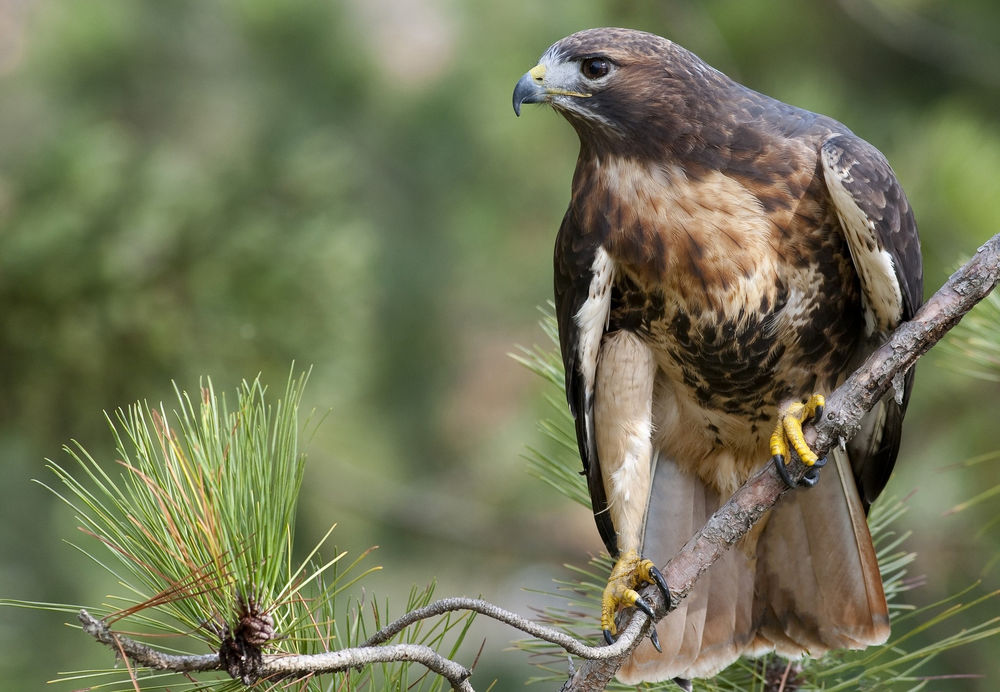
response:
{"label": "blurred green background behind the hawk and pine needles", "polygon": [[[0,0],[0,595],[116,588],[30,482],[70,439],[110,462],[103,410],[201,375],[280,389],[295,360],[330,411],[308,445],[303,548],[337,522],[340,547],[381,546],[371,591],[437,578],[441,595],[541,605],[524,587],[600,544],[525,472],[524,447],[547,444],[542,384],[506,354],[544,340],[577,144],[546,109],[515,119],[510,96],[550,43],[609,24],[875,143],[916,209],[930,289],[1000,230],[994,0]],[[949,468],[1000,447],[997,385],[954,358],[922,361],[888,489],[912,494],[919,603],[1000,586],[1000,539],[979,532],[997,508],[945,515],[1000,475]],[[5,689],[111,663],[63,619],[0,612]],[[530,675],[514,636],[476,626],[480,686]],[[997,646],[927,671],[986,679],[930,689],[995,689]]]}

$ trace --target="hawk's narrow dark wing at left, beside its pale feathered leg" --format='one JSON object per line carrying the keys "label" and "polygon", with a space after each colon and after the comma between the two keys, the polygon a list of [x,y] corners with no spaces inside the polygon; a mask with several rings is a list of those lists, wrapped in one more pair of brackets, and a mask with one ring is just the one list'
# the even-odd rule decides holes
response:
{"label": "hawk's narrow dark wing at left, beside its pale feathered leg", "polygon": [[[583,460],[583,473],[587,476],[590,500],[594,509],[594,520],[601,539],[612,556],[618,555],[618,540],[615,527],[608,513],[608,500],[601,478],[601,462],[597,456],[594,436],[594,374],[597,370],[597,351],[607,324],[607,308],[593,304],[595,291],[597,298],[605,298],[610,304],[610,277],[603,289],[596,284],[595,265],[603,254],[600,243],[580,232],[579,223],[571,206],[563,218],[556,237],[555,248],[555,302],[556,320],[559,324],[559,345],[562,350],[563,366],[566,371],[566,398],[576,422],[576,440]],[[608,295],[601,294],[602,290]],[[595,315],[581,327],[578,316],[588,308]],[[604,317],[598,314],[603,310]],[[596,340],[596,346],[594,341]],[[587,348],[587,344],[591,347]]]}

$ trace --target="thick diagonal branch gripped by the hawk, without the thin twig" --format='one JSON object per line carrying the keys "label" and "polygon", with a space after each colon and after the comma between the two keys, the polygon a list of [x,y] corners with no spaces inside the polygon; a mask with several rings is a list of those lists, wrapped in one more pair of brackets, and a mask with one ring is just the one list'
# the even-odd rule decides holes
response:
{"label": "thick diagonal branch gripped by the hawk, without the thin twig", "polygon": [[[813,449],[825,456],[840,440],[850,439],[860,428],[861,419],[892,386],[893,378],[905,374],[920,356],[941,340],[965,314],[992,291],[1000,281],[1000,234],[993,236],[975,256],[951,275],[948,281],[928,300],[913,319],[901,324],[851,375],[826,399],[826,413],[816,425]],[[801,480],[806,467],[797,459],[789,468],[792,479]],[[657,619],[677,607],[691,591],[698,577],[736,541],[742,538],[787,490],[773,464],[750,477],[719,511],[712,515],[704,528],[689,540],[663,568],[670,585],[671,604],[663,601],[659,590],[647,588],[643,596],[649,601]],[[626,633],[645,632],[648,621],[637,613],[629,622]],[[603,690],[618,669],[638,646],[640,637],[630,640],[629,649],[618,656],[588,661],[574,671],[563,690]]]}

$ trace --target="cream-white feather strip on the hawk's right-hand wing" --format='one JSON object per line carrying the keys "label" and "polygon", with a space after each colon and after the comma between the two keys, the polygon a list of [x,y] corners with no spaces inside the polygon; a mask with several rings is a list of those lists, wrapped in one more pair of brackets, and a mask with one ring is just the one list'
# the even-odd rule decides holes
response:
{"label": "cream-white feather strip on the hawk's right-hand wing", "polygon": [[868,218],[844,187],[844,180],[850,179],[850,169],[833,161],[831,154],[824,150],[823,171],[827,189],[847,236],[854,268],[861,277],[865,331],[869,336],[876,331],[888,331],[899,324],[903,315],[903,295],[892,256],[879,247],[875,222]]}

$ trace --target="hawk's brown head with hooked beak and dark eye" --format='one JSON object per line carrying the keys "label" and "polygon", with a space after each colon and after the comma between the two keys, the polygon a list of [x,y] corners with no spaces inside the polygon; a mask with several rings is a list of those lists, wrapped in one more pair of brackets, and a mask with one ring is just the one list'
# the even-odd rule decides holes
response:
{"label": "hawk's brown head with hooked beak and dark eye", "polygon": [[632,29],[588,29],[554,43],[514,89],[521,104],[549,103],[585,143],[647,151],[690,137],[717,114],[733,83],[672,41]]}

